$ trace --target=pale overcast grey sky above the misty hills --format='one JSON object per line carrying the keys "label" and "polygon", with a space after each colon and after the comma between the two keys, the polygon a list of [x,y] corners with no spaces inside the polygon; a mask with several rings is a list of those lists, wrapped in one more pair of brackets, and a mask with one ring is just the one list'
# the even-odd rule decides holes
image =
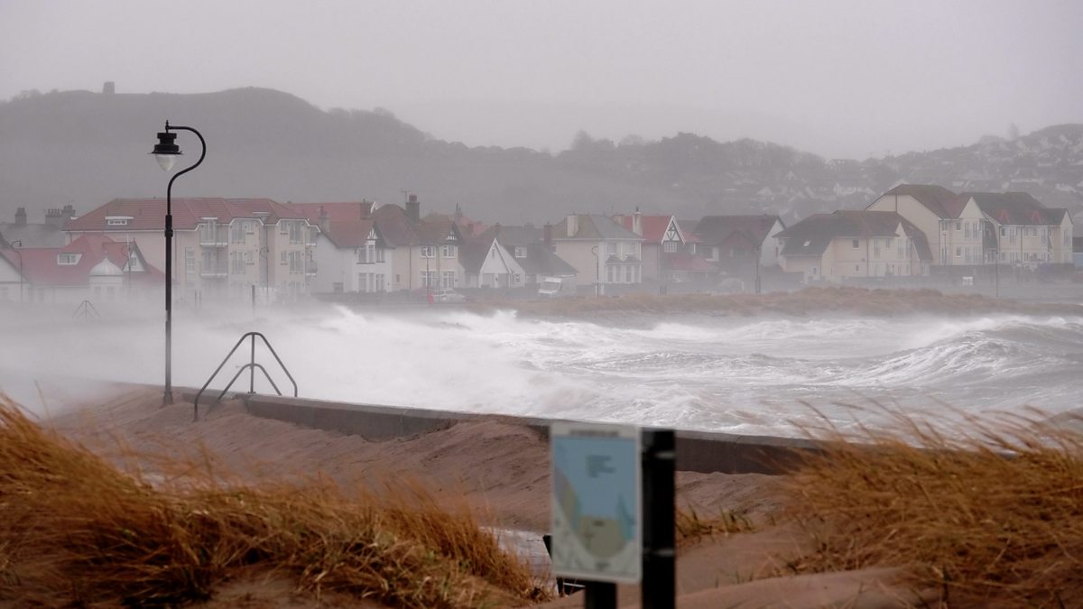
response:
{"label": "pale overcast grey sky above the misty hills", "polygon": [[0,0],[0,98],[255,86],[470,145],[864,158],[1083,122],[1081,33],[1077,0]]}

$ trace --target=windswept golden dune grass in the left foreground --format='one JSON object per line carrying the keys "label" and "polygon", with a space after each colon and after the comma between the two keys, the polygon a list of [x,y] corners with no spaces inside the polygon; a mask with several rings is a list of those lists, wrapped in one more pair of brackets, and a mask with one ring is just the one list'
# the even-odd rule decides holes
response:
{"label": "windswept golden dune grass in the left foreground", "polygon": [[393,607],[545,596],[466,507],[416,484],[347,497],[321,479],[244,485],[200,464],[156,467],[168,475],[152,485],[0,399],[0,602],[188,604],[253,569]]}

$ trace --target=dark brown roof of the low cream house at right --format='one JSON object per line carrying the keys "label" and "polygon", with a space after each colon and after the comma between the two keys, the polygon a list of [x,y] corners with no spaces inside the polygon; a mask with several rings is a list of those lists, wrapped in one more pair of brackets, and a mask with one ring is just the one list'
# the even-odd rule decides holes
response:
{"label": "dark brown roof of the low cream house at right", "polygon": [[902,224],[918,258],[931,260],[928,241],[917,226],[895,211],[840,210],[813,213],[775,236],[785,239],[783,256],[822,256],[836,238],[892,237]]}

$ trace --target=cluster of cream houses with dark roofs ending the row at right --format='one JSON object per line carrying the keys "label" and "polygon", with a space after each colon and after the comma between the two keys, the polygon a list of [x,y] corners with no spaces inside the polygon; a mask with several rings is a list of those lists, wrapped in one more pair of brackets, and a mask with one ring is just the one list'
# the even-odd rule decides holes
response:
{"label": "cluster of cream houses with dark roofs ending the row at right", "polygon": [[807,282],[974,276],[1071,265],[1072,219],[1027,193],[901,184],[862,210],[815,213],[781,231],[780,264]]}

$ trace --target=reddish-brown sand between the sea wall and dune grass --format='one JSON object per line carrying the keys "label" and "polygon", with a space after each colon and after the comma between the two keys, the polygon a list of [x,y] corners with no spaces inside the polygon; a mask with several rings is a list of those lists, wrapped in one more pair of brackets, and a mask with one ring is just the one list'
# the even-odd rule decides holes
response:
{"label": "reddish-brown sand between the sea wall and dune grass", "polygon": [[[48,399],[48,396],[47,396]],[[242,401],[221,403],[192,423],[191,405],[162,407],[156,388],[117,387],[94,403],[51,404],[45,422],[95,452],[116,457],[118,446],[141,455],[188,457],[245,481],[326,476],[349,489],[379,489],[416,480],[448,501],[469,503],[493,527],[540,534],[549,526],[548,444],[530,429],[496,418],[388,441],[368,441],[248,414]],[[119,457],[118,457],[119,458]],[[153,458],[144,476],[154,478]],[[702,518],[740,515],[751,530],[697,535],[678,553],[679,606],[905,607],[931,600],[892,585],[892,569],[797,575],[787,568],[810,550],[807,535],[784,523],[784,477],[678,472],[678,506]],[[788,571],[788,573],[787,573]],[[636,586],[622,585],[622,607],[639,602]],[[297,595],[287,582],[261,576],[233,582],[208,606],[351,606],[334,595]],[[576,607],[582,595],[552,607]]]}

